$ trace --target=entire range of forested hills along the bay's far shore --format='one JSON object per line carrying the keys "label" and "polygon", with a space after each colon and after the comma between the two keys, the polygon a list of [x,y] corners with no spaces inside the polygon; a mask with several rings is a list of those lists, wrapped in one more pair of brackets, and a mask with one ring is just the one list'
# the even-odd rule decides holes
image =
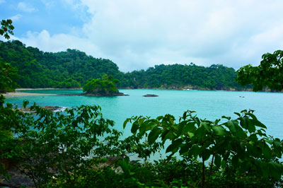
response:
{"label": "entire range of forested hills along the bay's far shore", "polygon": [[18,70],[20,88],[78,88],[89,78],[108,74],[120,81],[120,88],[241,89],[234,81],[236,71],[222,65],[161,64],[124,74],[109,59],[94,58],[76,49],[42,52],[18,40],[0,41],[0,63],[4,62]]}

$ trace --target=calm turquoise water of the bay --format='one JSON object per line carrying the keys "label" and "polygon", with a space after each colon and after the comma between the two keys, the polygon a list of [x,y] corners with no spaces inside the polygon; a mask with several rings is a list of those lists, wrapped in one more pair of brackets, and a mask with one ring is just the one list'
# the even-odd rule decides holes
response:
{"label": "calm turquoise water of the bay", "polygon": [[[28,90],[28,93],[82,93],[82,90]],[[23,100],[38,105],[75,107],[79,105],[100,105],[103,117],[116,122],[115,129],[122,130],[126,118],[144,115],[157,117],[173,114],[177,119],[186,110],[197,111],[198,117],[209,120],[219,119],[222,115],[236,117],[233,112],[244,109],[255,110],[258,119],[267,126],[267,134],[283,139],[283,93],[253,93],[233,91],[200,90],[120,90],[129,96],[86,97],[86,96],[30,96],[8,98],[18,107]],[[144,98],[142,95],[156,94],[158,98]],[[243,96],[244,98],[240,98]],[[124,135],[130,135],[129,125]]]}

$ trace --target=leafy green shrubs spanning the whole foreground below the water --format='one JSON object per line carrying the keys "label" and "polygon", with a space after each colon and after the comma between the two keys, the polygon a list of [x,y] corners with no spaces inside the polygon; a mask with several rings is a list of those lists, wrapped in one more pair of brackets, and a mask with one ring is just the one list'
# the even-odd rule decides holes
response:
{"label": "leafy green shrubs spanning the whole foreground below the water", "polygon": [[[265,125],[252,111],[236,113],[237,119],[223,117],[221,124],[220,119],[199,119],[191,111],[179,122],[170,114],[132,117],[124,126],[131,122],[133,134],[121,139],[122,133],[111,128],[114,122],[104,119],[98,106],[49,112],[33,105],[32,114],[12,107],[1,95],[0,159],[18,161],[18,170],[35,187],[282,185],[282,141],[265,135]],[[166,152],[171,155],[146,160],[168,141]],[[172,156],[176,152],[179,160]],[[130,161],[127,155],[132,154],[144,162]],[[0,172],[8,179],[2,164]]]}

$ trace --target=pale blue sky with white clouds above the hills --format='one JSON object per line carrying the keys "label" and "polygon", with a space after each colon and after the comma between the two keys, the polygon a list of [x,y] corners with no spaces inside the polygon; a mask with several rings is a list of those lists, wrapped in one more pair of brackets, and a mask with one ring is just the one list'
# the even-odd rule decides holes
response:
{"label": "pale blue sky with white clouds above the hills", "polygon": [[282,0],[0,0],[12,39],[45,52],[79,49],[121,71],[258,65],[262,54],[283,49],[282,10]]}

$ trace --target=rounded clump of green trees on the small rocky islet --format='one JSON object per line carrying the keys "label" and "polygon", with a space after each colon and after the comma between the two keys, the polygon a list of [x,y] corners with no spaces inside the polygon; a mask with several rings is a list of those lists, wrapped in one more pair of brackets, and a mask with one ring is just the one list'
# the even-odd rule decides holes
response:
{"label": "rounded clump of green trees on the small rocky islet", "polygon": [[100,94],[100,95],[110,95],[113,93],[118,93],[116,84],[119,81],[113,76],[108,76],[104,74],[102,78],[91,79],[86,85],[83,86],[83,92]]}

